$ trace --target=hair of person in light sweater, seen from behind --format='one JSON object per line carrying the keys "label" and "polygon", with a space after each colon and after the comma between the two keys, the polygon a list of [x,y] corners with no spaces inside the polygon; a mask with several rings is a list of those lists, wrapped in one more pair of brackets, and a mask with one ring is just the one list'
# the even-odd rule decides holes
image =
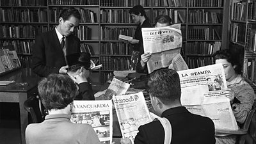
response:
{"label": "hair of person in light sweater, seen from behind", "polygon": [[63,109],[78,94],[77,86],[69,76],[50,74],[38,83],[38,93],[45,109]]}

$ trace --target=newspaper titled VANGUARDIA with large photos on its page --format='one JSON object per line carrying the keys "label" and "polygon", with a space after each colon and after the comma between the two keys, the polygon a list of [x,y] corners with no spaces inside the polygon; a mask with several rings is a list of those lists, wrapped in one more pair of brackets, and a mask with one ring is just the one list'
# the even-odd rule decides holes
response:
{"label": "newspaper titled VANGUARDIA with large photos on its page", "polygon": [[110,144],[113,135],[111,100],[74,100],[71,122],[92,125],[101,143]]}

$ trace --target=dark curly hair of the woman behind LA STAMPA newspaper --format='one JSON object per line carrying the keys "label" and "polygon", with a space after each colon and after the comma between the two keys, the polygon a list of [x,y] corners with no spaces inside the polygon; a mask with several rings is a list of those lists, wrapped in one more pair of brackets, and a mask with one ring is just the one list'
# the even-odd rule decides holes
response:
{"label": "dark curly hair of the woman behind LA STAMPA newspaper", "polygon": [[213,54],[214,61],[219,59],[225,59],[229,63],[231,63],[232,66],[236,65],[234,68],[236,74],[242,74],[242,65],[239,61],[239,54],[237,52],[232,52],[230,49],[223,49],[220,51],[216,51]]}

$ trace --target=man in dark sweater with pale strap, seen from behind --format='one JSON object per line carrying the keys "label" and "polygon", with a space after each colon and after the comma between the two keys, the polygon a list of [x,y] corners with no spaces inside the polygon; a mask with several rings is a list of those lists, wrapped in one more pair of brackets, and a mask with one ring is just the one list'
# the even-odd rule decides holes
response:
{"label": "man in dark sweater with pale strap, seen from behind", "polygon": [[[150,74],[148,92],[156,114],[172,125],[172,142],[182,144],[215,144],[214,124],[210,118],[194,115],[180,104],[180,79],[175,70],[161,68]],[[122,139],[122,144],[131,143]],[[164,143],[164,128],[159,120],[139,127],[134,140],[140,143]]]}

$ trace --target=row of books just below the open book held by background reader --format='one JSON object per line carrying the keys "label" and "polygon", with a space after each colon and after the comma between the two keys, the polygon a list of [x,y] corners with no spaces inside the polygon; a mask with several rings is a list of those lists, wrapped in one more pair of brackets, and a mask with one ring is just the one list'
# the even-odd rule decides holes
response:
{"label": "row of books just below the open book held by background reader", "polygon": [[121,55],[131,55],[132,47],[130,44],[123,42],[107,42],[101,43],[100,45],[101,54],[121,54]]}

